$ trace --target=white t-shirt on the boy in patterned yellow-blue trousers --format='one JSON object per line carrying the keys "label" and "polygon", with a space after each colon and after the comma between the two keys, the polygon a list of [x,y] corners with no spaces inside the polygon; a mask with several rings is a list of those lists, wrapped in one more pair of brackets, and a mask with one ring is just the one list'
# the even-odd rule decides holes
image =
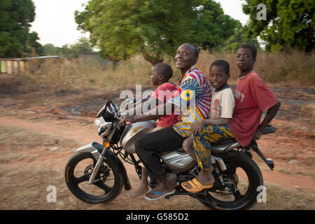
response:
{"label": "white t-shirt on the boy in patterned yellow-blue trousers", "polygon": [[212,88],[210,119],[232,118],[234,107],[235,99],[230,86],[226,85],[220,91]]}

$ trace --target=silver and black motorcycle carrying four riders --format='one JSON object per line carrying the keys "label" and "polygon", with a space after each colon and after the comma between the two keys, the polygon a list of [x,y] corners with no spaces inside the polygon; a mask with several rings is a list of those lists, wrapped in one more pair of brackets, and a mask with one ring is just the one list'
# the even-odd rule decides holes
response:
{"label": "silver and black motorcycle carrying four riders", "polygon": [[[155,128],[155,121],[148,120],[131,125],[119,122],[118,106],[111,101],[97,113],[95,125],[103,144],[92,142],[76,149],[66,163],[66,185],[79,200],[89,204],[108,203],[120,194],[123,187],[131,190],[122,160],[134,166],[141,179],[141,161],[137,159],[134,143]],[[275,132],[269,125],[264,134]],[[197,176],[200,168],[183,148],[161,153],[162,168],[166,178],[174,185],[176,195],[193,197],[211,209],[250,209],[257,202],[263,186],[262,174],[252,159],[251,152],[258,153],[269,169],[274,169],[272,159],[266,159],[257,142],[242,147],[235,139],[218,141],[211,148],[211,164],[214,167],[214,186],[199,193],[188,193],[181,183]],[[120,158],[122,160],[120,160]],[[156,181],[149,181],[154,188]]]}

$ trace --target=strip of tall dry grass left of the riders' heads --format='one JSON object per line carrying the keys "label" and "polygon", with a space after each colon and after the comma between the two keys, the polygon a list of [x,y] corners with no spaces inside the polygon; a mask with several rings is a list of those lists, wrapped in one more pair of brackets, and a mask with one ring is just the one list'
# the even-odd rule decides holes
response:
{"label": "strip of tall dry grass left of the riders' heads", "polygon": [[151,64],[141,57],[122,62],[100,64],[97,60],[72,59],[71,61],[46,60],[40,66],[30,62],[23,74],[26,83],[33,85],[62,85],[71,87],[106,87],[123,90],[136,84],[151,85]]}

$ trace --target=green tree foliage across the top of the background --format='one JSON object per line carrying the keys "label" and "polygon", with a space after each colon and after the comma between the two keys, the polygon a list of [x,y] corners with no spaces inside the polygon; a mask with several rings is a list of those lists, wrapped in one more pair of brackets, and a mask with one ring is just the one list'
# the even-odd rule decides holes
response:
{"label": "green tree foliage across the top of the background", "polygon": [[[258,4],[266,6],[266,20],[258,20]],[[78,29],[90,32],[73,45],[38,43],[29,27],[35,18],[31,0],[0,0],[0,57],[63,55],[99,52],[118,62],[142,55],[151,64],[174,57],[182,43],[206,52],[235,52],[252,43],[268,52],[314,50],[314,0],[244,0],[246,25],[225,15],[214,0],[90,0],[74,18]],[[260,43],[258,43],[258,37]]]}

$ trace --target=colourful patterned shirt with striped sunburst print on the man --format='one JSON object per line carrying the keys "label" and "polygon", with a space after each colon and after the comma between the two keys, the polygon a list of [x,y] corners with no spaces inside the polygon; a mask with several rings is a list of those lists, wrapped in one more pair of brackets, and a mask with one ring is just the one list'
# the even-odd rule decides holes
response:
{"label": "colourful patterned shirt with striped sunburst print on the man", "polygon": [[207,77],[193,65],[179,81],[178,90],[169,99],[179,110],[179,122],[173,125],[174,130],[182,137],[191,135],[193,124],[209,118],[211,106],[211,87]]}

